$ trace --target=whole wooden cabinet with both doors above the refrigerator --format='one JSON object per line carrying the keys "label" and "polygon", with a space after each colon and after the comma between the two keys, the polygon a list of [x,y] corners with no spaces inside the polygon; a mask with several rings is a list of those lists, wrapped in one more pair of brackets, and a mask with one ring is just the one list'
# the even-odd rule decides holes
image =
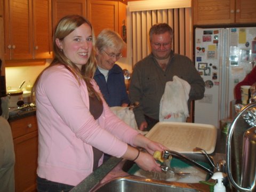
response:
{"label": "whole wooden cabinet with both doors above the refrigerator", "polygon": [[255,0],[194,0],[194,25],[255,23]]}

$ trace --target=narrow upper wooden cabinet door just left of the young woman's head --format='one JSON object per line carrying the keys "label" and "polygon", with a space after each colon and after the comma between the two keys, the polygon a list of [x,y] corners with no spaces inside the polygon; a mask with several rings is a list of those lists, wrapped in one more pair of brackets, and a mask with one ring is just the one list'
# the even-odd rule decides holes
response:
{"label": "narrow upper wooden cabinet door just left of the young woman's head", "polygon": [[51,0],[33,0],[34,59],[52,58],[51,7]]}

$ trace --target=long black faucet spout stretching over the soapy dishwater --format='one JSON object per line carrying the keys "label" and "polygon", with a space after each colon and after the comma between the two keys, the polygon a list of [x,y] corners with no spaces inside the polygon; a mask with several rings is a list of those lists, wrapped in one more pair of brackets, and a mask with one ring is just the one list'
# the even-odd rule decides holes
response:
{"label": "long black faucet spout stretching over the soapy dishwater", "polygon": [[202,169],[202,170],[208,172],[210,175],[213,175],[213,173],[214,173],[212,170],[208,169],[207,167],[195,162],[193,159],[187,157],[186,155],[178,153],[177,151],[172,151],[172,150],[164,150],[163,151],[162,157],[164,159],[169,159],[170,156],[181,158],[181,159],[187,161],[188,163],[191,163],[191,164],[197,166],[199,169]]}

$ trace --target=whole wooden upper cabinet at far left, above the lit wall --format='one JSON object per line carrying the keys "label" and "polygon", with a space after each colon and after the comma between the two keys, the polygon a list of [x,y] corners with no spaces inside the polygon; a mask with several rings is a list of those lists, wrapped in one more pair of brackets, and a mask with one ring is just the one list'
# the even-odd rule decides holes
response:
{"label": "whole wooden upper cabinet at far left, above the lit wall", "polygon": [[5,59],[51,58],[51,0],[4,0]]}

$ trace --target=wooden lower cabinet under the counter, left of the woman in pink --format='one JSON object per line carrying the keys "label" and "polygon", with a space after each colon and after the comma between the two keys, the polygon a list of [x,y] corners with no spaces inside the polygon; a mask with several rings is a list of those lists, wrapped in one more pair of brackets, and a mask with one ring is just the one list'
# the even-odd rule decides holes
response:
{"label": "wooden lower cabinet under the counter, left of the woman in pink", "polygon": [[10,122],[15,151],[15,191],[36,191],[38,132],[36,116]]}

